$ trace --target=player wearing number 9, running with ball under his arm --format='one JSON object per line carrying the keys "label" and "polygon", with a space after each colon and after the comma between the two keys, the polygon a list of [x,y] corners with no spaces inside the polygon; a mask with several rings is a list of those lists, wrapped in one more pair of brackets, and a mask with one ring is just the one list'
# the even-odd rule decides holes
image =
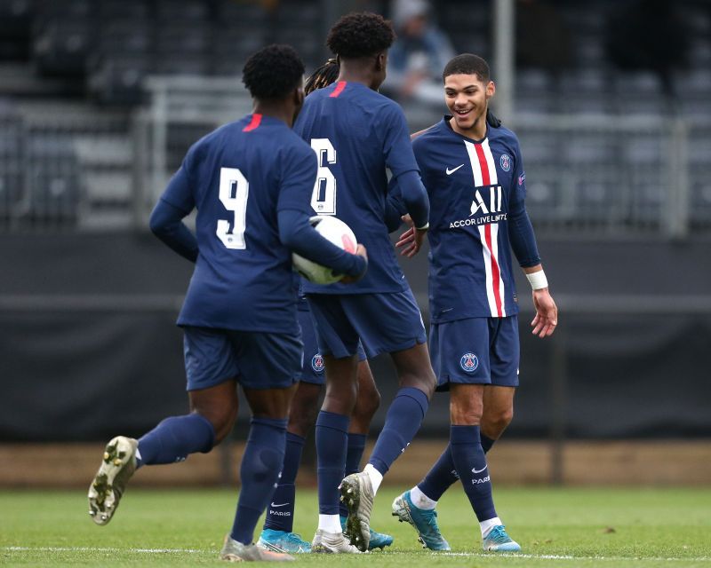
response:
{"label": "player wearing number 9, running with ball under his arm", "polygon": [[[244,65],[254,111],[202,138],[158,201],[151,229],[196,263],[180,312],[191,413],[160,422],[139,440],[106,447],[89,489],[90,515],[113,517],[126,483],[144,465],[183,461],[224,439],[237,414],[237,384],[252,410],[235,523],[220,557],[292,560],[252,544],[284,461],[287,415],[300,375],[292,251],[355,280],[364,248],[349,254],[309,224],[316,179],[310,147],[291,130],[302,106],[304,66],[271,45]],[[182,218],[197,209],[196,235]]]}

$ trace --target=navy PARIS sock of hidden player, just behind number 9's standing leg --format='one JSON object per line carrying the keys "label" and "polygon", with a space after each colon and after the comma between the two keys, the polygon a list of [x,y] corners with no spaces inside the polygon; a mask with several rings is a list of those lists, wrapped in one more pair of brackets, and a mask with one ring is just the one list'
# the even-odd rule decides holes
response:
{"label": "navy PARIS sock of hidden player, just behind number 9's standing leg", "polygon": [[301,453],[305,442],[306,438],[286,432],[286,452],[284,453],[282,477],[279,477],[279,484],[276,485],[272,499],[269,501],[267,518],[264,520],[265,529],[292,533],[296,501],[296,474],[299,472]]}

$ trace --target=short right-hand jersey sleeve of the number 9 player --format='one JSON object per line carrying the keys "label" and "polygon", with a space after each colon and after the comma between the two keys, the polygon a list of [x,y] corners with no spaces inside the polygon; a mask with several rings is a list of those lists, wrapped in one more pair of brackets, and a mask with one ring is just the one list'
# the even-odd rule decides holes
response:
{"label": "short right-hand jersey sleeve of the number 9 player", "polygon": [[316,182],[316,154],[305,143],[292,146],[284,154],[277,211],[292,209],[314,215],[311,193]]}

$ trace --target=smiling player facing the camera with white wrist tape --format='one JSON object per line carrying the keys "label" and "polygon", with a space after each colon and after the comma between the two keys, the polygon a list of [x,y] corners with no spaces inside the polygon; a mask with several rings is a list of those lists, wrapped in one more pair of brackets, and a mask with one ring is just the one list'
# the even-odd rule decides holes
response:
{"label": "smiling player facing the camera with white wrist tape", "polygon": [[[485,453],[513,417],[518,386],[518,305],[510,249],[533,288],[533,334],[547,337],[557,308],[524,206],[525,173],[511,130],[487,124],[495,86],[486,61],[471,54],[444,67],[451,116],[421,133],[413,147],[430,215],[430,349],[438,390],[450,390],[450,443],[427,476],[393,502],[393,515],[434,550],[448,550],[435,505],[460,479],[475,510],[484,550],[512,551],[497,516]],[[411,256],[415,235],[397,246]]]}

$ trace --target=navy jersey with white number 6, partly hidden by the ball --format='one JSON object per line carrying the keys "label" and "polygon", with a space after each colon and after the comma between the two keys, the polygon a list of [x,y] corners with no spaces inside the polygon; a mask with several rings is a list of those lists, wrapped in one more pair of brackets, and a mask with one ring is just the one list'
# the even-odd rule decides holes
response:
{"label": "navy jersey with white number 6, partly hidden by the ball", "polygon": [[419,170],[403,110],[361,83],[340,81],[308,95],[294,131],[318,157],[311,206],[319,215],[347,223],[368,251],[368,272],[356,284],[319,286],[305,281],[304,291],[366,294],[406,289],[385,221],[386,169],[394,177]]}

